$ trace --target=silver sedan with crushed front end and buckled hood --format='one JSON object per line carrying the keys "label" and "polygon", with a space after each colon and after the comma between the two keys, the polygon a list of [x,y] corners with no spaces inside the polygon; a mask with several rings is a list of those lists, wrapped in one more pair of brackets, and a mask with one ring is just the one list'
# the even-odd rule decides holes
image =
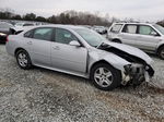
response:
{"label": "silver sedan with crushed front end and buckled hood", "polygon": [[22,69],[37,65],[85,78],[103,90],[149,82],[154,70],[143,51],[109,42],[96,32],[71,25],[30,27],[10,35],[7,51]]}

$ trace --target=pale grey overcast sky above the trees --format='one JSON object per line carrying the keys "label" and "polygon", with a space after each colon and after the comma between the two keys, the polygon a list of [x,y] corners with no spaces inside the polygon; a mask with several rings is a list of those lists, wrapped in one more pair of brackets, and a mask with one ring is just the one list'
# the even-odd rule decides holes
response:
{"label": "pale grey overcast sky above the trees", "polygon": [[102,15],[142,21],[164,19],[164,0],[0,0],[0,9],[10,8],[15,13],[33,12],[48,17],[67,10],[99,11]]}

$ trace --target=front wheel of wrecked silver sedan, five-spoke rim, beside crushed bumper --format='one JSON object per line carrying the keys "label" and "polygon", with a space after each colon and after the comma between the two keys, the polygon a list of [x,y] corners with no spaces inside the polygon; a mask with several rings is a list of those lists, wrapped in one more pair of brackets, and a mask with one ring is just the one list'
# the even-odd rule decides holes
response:
{"label": "front wheel of wrecked silver sedan, five-spoke rim, beside crushed bumper", "polygon": [[98,89],[112,90],[120,85],[121,73],[107,63],[99,63],[91,70],[91,80]]}

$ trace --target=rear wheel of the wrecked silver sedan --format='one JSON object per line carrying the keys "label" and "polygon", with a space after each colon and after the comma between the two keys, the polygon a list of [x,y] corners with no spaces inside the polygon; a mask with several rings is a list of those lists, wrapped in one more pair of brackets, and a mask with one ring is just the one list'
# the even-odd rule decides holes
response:
{"label": "rear wheel of the wrecked silver sedan", "polygon": [[16,61],[21,69],[28,70],[32,68],[31,58],[25,50],[19,50],[16,52]]}

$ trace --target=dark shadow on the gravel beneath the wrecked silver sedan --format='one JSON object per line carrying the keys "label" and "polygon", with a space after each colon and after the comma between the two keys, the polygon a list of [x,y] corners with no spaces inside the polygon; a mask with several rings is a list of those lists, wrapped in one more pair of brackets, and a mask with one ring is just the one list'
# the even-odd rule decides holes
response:
{"label": "dark shadow on the gravel beneath the wrecked silver sedan", "polygon": [[[77,83],[84,83],[86,85],[91,85],[93,88],[95,88],[95,86],[92,84],[91,80],[81,77],[81,76],[77,76],[77,75],[72,75],[72,74],[67,74],[67,73],[62,73],[62,72],[58,72],[58,71],[52,71],[52,70],[47,70],[44,68],[38,68],[38,66],[34,66],[34,70],[38,70],[39,72],[44,73],[44,74],[48,74],[48,75],[56,75],[57,77],[63,77],[63,78],[68,78],[71,80],[72,82],[77,82]],[[97,91],[103,91],[101,89],[95,88],[95,90]],[[149,84],[141,84],[139,86],[132,86],[132,85],[126,85],[126,86],[118,86],[117,88],[115,88],[114,90],[107,90],[107,91],[132,91],[132,94],[139,94],[139,90],[141,90],[141,97],[145,96],[148,93],[149,94],[164,94],[164,89],[160,89],[153,86],[150,86]],[[106,93],[106,91],[105,91]]]}

